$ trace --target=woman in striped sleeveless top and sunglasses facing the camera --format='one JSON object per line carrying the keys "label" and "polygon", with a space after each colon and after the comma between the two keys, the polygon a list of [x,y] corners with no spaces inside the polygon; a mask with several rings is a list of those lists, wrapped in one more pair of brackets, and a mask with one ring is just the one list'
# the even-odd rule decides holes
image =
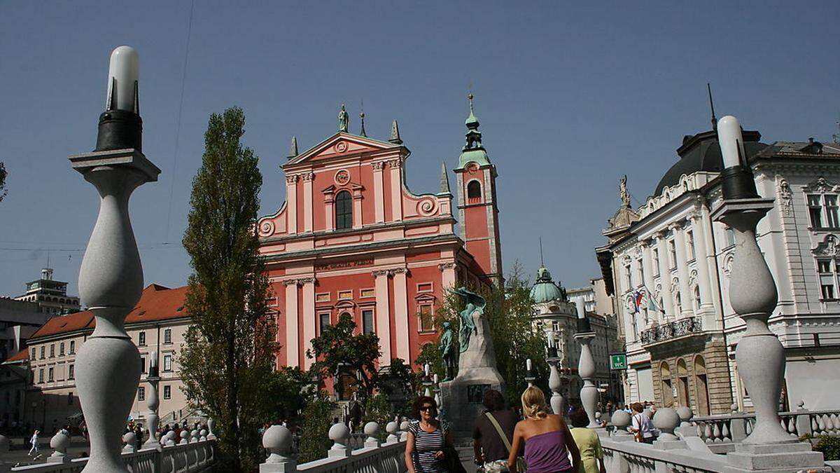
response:
{"label": "woman in striped sleeveless top and sunglasses facing the camera", "polygon": [[414,401],[414,417],[408,424],[406,466],[408,473],[446,473],[444,448],[452,444],[449,428],[438,420],[438,403],[420,396]]}

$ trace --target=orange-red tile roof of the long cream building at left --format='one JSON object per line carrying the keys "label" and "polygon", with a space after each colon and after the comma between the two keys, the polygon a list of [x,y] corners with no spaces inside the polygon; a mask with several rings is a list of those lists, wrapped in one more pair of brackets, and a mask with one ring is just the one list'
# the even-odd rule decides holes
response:
{"label": "orange-red tile roof of the long cream building at left", "polygon": [[[155,322],[186,317],[184,300],[186,299],[187,288],[188,286],[181,286],[176,289],[169,289],[160,284],[150,284],[140,295],[137,306],[134,306],[134,309],[126,316],[125,323]],[[92,312],[81,311],[51,318],[29,339],[31,343],[39,337],[84,329],[92,330],[93,327],[96,327],[96,320]]]}

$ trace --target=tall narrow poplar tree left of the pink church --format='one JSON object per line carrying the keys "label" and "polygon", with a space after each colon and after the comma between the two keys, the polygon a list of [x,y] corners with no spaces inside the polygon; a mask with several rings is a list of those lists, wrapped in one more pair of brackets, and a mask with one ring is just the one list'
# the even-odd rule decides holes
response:
{"label": "tall narrow poplar tree left of the pink church", "polygon": [[259,461],[276,331],[254,226],[262,175],[258,157],[240,141],[244,123],[236,107],[210,115],[183,239],[193,273],[182,389],[191,407],[217,420],[227,471],[253,470]]}

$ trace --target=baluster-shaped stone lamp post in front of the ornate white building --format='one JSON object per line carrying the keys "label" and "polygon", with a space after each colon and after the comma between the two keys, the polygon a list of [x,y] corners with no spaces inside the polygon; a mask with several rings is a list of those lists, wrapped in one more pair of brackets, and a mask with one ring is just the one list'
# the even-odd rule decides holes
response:
{"label": "baluster-shaped stone lamp post in front of the ornate white building", "polygon": [[738,119],[723,117],[717,134],[725,169],[720,174],[722,203],[712,213],[712,219],[735,231],[729,301],[745,323],[735,349],[735,363],[755,411],[752,433],[736,445],[735,452],[727,454],[727,461],[733,470],[822,466],[821,453],[811,451],[810,444],[798,444],[780,425],[785,348],[767,324],[778,292],[756,240],[759,221],[774,208],[773,199],[759,197],[752,168],[747,165]]}

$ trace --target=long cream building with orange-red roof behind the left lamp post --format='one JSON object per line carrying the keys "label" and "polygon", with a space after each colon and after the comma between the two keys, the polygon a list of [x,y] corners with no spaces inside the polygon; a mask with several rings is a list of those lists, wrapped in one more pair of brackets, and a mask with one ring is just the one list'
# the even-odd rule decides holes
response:
{"label": "long cream building with orange-red roof behind the left lamp post", "polygon": [[[193,414],[186,407],[177,364],[190,322],[184,311],[185,295],[186,286],[169,289],[150,284],[126,317],[126,332],[137,345],[142,364],[140,383],[131,408],[131,416],[135,419],[144,420],[148,411],[146,396],[150,385],[146,377],[154,353],[157,353],[160,371],[158,412],[161,425],[181,422]],[[81,420],[76,390],[76,353],[95,325],[90,311],[52,317],[29,338],[28,348],[3,363],[3,369],[25,373],[22,403],[15,403],[24,423],[51,432],[55,426]],[[2,392],[0,396],[4,396]]]}

